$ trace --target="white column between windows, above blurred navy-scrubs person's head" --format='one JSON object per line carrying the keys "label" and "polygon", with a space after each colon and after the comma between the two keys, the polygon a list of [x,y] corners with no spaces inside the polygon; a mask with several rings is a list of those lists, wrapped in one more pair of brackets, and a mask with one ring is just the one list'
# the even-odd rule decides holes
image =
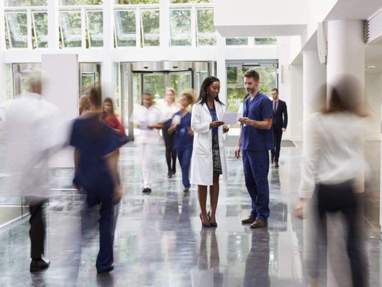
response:
{"label": "white column between windows, above blurred navy-scrubs person's head", "polygon": [[113,1],[103,1],[103,98],[113,98],[113,80],[118,76],[113,73],[113,48]]}

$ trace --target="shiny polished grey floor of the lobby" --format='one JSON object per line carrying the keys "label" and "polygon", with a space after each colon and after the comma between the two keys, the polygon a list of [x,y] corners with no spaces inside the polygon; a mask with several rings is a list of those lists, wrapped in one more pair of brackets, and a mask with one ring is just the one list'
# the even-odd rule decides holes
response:
{"label": "shiny polished grey floor of the lobby", "polygon": [[[137,150],[121,149],[124,196],[117,207],[115,269],[97,275],[97,210],[71,190],[72,169],[52,170],[46,207],[48,270],[29,273],[28,217],[0,229],[1,287],[305,287],[302,221],[293,216],[300,176],[301,143],[283,147],[280,167],[270,168],[268,228],[241,224],[251,209],[241,160],[226,148],[229,181],[220,184],[217,228],[201,228],[196,186],[183,192],[181,170],[167,178],[164,148],[153,159],[153,191],[143,194]],[[365,199],[365,245],[371,287],[382,284],[379,226],[380,144],[368,143],[372,179]],[[326,264],[320,286],[327,285]],[[345,285],[346,284],[346,285]],[[337,285],[350,286],[337,279]]]}

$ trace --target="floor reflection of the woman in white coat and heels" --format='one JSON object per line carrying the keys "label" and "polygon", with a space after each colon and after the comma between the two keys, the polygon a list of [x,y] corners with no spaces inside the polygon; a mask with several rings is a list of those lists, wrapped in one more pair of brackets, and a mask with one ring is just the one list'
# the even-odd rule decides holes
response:
{"label": "floor reflection of the woman in white coat and heels", "polygon": [[[197,266],[191,270],[192,287],[222,287],[224,273],[220,272],[219,248],[216,240],[215,229],[200,231],[200,246]],[[210,239],[210,266],[208,268],[207,238]],[[225,286],[225,285],[224,285]]]}

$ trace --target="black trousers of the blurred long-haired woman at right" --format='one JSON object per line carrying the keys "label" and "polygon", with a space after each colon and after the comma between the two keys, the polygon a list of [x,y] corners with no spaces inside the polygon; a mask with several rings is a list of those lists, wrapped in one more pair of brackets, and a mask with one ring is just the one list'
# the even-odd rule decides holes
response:
{"label": "black trousers of the blurred long-haired woman at right", "polygon": [[[360,217],[360,204],[354,193],[351,181],[334,185],[316,186],[317,195],[317,220],[319,228],[319,238],[323,238],[326,245],[326,214],[331,212],[341,212],[344,215],[347,229],[346,248],[350,261],[353,287],[366,287],[367,285],[367,261],[363,252]],[[316,239],[317,240],[317,239]],[[318,242],[317,242],[318,245]],[[316,245],[316,246],[317,246]],[[318,263],[318,259],[316,259]],[[310,270],[312,278],[318,278],[318,265]]]}

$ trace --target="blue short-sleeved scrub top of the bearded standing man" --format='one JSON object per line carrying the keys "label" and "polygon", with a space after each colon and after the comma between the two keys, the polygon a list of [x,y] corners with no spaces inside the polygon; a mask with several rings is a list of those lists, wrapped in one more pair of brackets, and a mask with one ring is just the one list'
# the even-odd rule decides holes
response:
{"label": "blue short-sleeved scrub top of the bearded standing man", "polygon": [[[251,97],[244,100],[243,117],[250,120],[263,121],[272,118],[272,101],[260,91],[252,101]],[[251,126],[242,125],[241,149],[243,150],[270,150],[275,148],[273,131],[261,130]]]}

